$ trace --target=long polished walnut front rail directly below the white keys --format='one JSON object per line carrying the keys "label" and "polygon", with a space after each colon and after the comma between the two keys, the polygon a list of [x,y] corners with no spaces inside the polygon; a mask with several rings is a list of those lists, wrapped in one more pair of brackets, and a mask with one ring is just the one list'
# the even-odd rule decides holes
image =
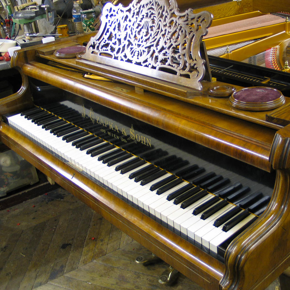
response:
{"label": "long polished walnut front rail directly below the white keys", "polygon": [[88,179],[5,123],[1,141],[162,260],[202,287],[218,289],[224,265]]}

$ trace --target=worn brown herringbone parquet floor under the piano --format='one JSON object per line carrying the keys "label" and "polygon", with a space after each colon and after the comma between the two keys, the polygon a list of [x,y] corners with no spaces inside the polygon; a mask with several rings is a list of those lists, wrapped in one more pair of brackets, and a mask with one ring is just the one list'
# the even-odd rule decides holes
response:
{"label": "worn brown herringbone parquet floor under the piano", "polygon": [[135,263],[147,253],[61,188],[0,211],[1,290],[202,290],[160,284],[165,263]]}

